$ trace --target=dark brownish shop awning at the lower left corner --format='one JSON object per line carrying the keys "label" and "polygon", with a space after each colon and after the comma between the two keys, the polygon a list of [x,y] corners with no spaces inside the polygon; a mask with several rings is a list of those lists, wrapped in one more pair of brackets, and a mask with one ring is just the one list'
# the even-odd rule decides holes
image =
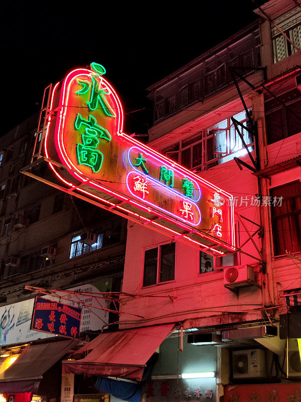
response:
{"label": "dark brownish shop awning at the lower left corner", "polygon": [[43,374],[78,341],[28,345],[18,359],[0,373],[0,393],[36,392]]}

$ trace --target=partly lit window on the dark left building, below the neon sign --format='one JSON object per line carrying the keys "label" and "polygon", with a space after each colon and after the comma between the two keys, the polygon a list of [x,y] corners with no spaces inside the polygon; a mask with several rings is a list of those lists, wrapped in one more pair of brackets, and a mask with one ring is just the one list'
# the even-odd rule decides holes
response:
{"label": "partly lit window on the dark left building, below the neon sign", "polygon": [[94,234],[95,241],[81,240],[81,235],[74,236],[71,241],[69,258],[78,257],[80,255],[99,250],[102,247],[110,246],[120,241],[121,220],[110,222],[99,228],[93,229],[90,233]]}

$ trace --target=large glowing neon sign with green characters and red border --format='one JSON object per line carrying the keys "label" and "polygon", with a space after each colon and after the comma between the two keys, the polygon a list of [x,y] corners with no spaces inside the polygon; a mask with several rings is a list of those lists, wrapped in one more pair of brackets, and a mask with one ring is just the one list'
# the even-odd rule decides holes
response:
{"label": "large glowing neon sign with green characters and red border", "polygon": [[92,63],[52,91],[44,157],[59,188],[207,252],[234,250],[232,195],[124,134],[104,74]]}

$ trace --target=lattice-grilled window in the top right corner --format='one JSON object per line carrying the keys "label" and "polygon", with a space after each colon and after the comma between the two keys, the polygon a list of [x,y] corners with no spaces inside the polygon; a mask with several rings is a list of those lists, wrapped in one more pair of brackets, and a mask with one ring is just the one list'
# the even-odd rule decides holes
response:
{"label": "lattice-grilled window in the top right corner", "polygon": [[[300,48],[301,46],[301,12],[295,8],[275,20],[275,24],[285,33],[290,41]],[[296,49],[279,32],[276,27],[272,27],[272,42],[274,52],[274,63],[283,60],[296,52]]]}

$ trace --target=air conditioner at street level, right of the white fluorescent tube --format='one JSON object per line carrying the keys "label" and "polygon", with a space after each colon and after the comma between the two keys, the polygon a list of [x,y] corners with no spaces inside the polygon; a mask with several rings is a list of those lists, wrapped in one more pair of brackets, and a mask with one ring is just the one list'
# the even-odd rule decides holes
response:
{"label": "air conditioner at street level, right of the white fluorescent tube", "polygon": [[233,350],[233,378],[265,377],[263,349]]}

